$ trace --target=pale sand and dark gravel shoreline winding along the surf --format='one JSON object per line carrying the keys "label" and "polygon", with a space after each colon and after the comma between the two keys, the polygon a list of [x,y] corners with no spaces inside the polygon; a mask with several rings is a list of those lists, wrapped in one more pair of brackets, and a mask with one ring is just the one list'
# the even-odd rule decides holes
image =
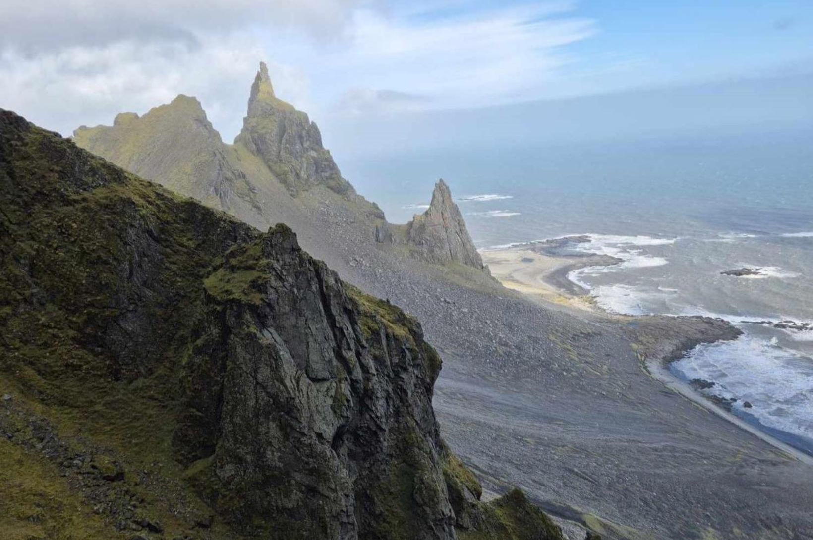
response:
{"label": "pale sand and dark gravel shoreline winding along the surf", "polygon": [[[784,452],[789,458],[805,464],[813,464],[813,455],[780,440],[768,430],[771,426],[755,426],[715,404],[708,396],[695,391],[669,369],[672,362],[680,360],[700,343],[715,343],[737,339],[741,330],[722,319],[702,317],[678,317],[672,315],[621,315],[608,313],[600,308],[583,287],[573,283],[567,275],[573,270],[587,266],[615,264],[608,261],[613,257],[561,256],[544,253],[545,244],[523,244],[511,248],[480,252],[483,262],[495,279],[504,287],[524,293],[533,300],[541,301],[554,308],[576,309],[606,319],[607,321],[628,321],[625,331],[633,348],[636,348],[641,367],[650,377],[664,387],[682,395],[693,404],[724,418],[735,426],[754,434],[760,440]],[[667,322],[668,324],[663,324]],[[677,322],[677,324],[676,324]],[[632,328],[627,328],[632,326]],[[784,432],[782,432],[784,433]],[[789,434],[793,438],[793,434]]]}

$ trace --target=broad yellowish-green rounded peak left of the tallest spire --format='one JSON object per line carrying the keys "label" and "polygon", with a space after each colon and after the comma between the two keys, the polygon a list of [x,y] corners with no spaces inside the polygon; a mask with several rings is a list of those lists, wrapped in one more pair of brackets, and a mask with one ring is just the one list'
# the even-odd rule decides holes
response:
{"label": "broad yellowish-green rounded peak left of the tallest spire", "polygon": [[252,204],[254,189],[194,97],[178,96],[142,117],[122,113],[110,127],[80,127],[73,136],[127,171],[216,208]]}

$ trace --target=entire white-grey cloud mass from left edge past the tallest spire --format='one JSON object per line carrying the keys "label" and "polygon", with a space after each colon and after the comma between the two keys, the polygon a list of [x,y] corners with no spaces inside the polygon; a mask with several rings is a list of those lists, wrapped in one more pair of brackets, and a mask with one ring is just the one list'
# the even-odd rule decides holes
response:
{"label": "entire white-grey cloud mass from left edge past the tallest spire", "polygon": [[385,9],[365,0],[6,0],[0,107],[68,134],[198,97],[231,140],[257,63],[315,119],[537,97],[593,23],[567,4],[462,0]]}

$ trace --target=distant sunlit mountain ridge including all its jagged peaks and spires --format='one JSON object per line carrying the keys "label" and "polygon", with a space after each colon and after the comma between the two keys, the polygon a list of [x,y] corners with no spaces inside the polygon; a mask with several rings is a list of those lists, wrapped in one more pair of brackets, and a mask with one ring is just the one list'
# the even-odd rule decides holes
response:
{"label": "distant sunlit mountain ridge including all its jagged peaks and spires", "polygon": [[[359,235],[359,241],[392,245],[396,253],[412,254],[420,261],[432,264],[457,263],[484,270],[450,194],[448,208],[430,209],[428,220],[424,222],[418,218],[418,223],[413,220],[406,226],[387,222],[378,205],[357,194],[352,184],[341,176],[328,149],[324,149],[319,127],[306,113],[276,96],[265,63],[260,63],[254,77],[243,128],[233,145],[220,140],[220,134],[213,128],[205,141],[199,141],[190,139],[187,132],[179,132],[177,126],[163,127],[152,121],[151,117],[163,108],[179,108],[177,103],[184,103],[184,98],[176,97],[168,106],[156,107],[140,118],[130,113],[124,117],[120,114],[111,127],[77,128],[73,138],[82,148],[129,171],[145,175],[220,210],[227,210],[258,227],[276,221],[297,221],[290,214],[291,208],[302,209],[300,220],[307,222],[309,216],[320,211],[325,204],[340,205],[345,207],[343,212],[347,219],[354,222],[351,224],[354,231],[349,234]],[[194,102],[198,104],[194,116],[202,116],[205,120],[199,103]],[[165,115],[167,119],[170,116]],[[187,119],[185,123],[193,122]],[[205,124],[211,127],[207,120]],[[173,133],[172,144],[154,143],[154,140],[162,140],[167,132]],[[193,157],[202,153],[224,156],[224,159],[216,162],[198,160],[203,164],[195,168],[185,165],[189,158],[174,155],[171,146],[183,148]],[[170,154],[173,154],[172,159],[167,159]],[[154,162],[168,162],[171,166]],[[207,195],[216,193],[215,186],[220,185],[212,180],[199,181],[207,186],[204,190],[189,185],[190,178],[220,178],[219,171],[233,171],[226,175],[228,182],[220,183],[228,192],[226,197]],[[180,172],[186,175],[180,175]],[[182,176],[185,181],[176,179],[177,176]],[[447,223],[443,216],[452,219]],[[450,227],[447,240],[441,241],[442,231],[436,229],[447,225]],[[295,230],[301,228],[293,227]]]}

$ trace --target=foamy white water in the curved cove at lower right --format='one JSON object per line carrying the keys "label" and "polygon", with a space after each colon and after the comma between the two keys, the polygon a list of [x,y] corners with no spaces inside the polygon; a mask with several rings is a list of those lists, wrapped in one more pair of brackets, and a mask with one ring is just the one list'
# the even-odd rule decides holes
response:
{"label": "foamy white water in the curved cove at lower right", "polygon": [[[672,369],[691,380],[715,382],[706,394],[736,398],[733,410],[765,426],[813,442],[813,359],[781,348],[776,339],[742,335],[701,344]],[[753,406],[746,408],[745,402]]]}

